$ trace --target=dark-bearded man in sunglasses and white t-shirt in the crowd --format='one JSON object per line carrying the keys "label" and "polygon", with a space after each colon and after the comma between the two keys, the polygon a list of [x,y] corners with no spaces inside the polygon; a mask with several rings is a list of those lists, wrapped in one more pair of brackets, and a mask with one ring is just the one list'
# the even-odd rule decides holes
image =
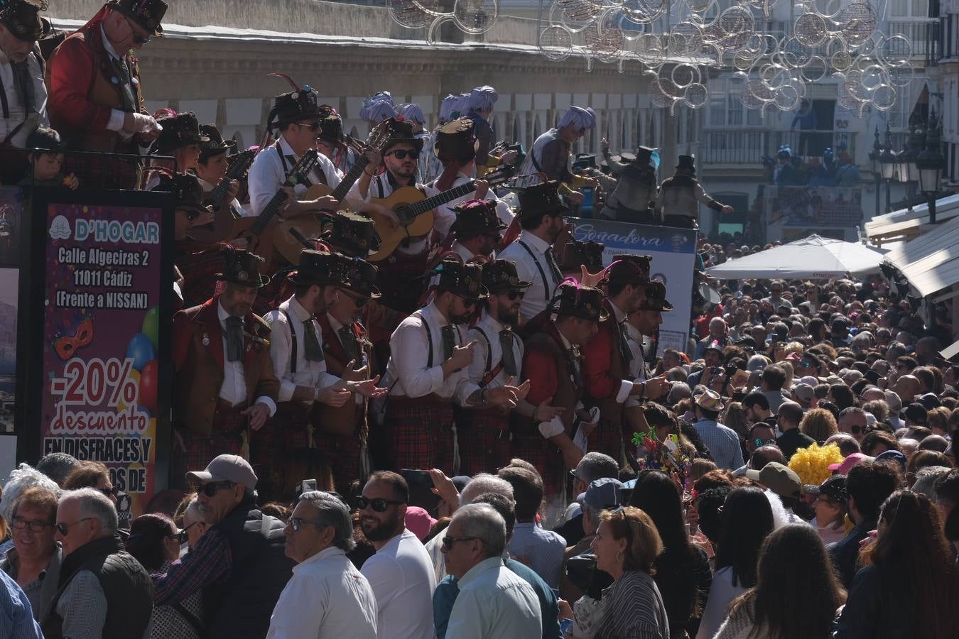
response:
{"label": "dark-bearded man in sunglasses and white t-shirt in the crowd", "polygon": [[409,486],[395,472],[374,472],[357,500],[363,535],[376,555],[363,563],[373,588],[379,639],[433,639],[436,576],[430,555],[406,529]]}

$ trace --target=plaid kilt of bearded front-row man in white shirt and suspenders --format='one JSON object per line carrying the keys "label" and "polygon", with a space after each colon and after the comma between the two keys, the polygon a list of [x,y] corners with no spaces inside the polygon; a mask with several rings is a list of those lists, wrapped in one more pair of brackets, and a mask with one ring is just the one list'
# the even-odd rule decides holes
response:
{"label": "plaid kilt of bearded front-row man in white shirt and suspenders", "polygon": [[456,407],[456,443],[459,474],[496,472],[509,464],[509,415],[499,408],[471,410]]}

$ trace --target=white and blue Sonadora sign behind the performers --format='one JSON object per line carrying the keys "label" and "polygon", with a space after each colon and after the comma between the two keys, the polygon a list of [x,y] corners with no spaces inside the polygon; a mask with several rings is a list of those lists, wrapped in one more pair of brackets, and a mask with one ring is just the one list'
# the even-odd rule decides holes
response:
{"label": "white and blue Sonadora sign behind the performers", "polygon": [[603,263],[620,253],[651,255],[649,277],[666,285],[673,309],[663,313],[660,354],[666,349],[686,351],[692,311],[692,272],[696,256],[696,232],[667,226],[644,226],[603,219],[573,217],[573,238],[605,245]]}

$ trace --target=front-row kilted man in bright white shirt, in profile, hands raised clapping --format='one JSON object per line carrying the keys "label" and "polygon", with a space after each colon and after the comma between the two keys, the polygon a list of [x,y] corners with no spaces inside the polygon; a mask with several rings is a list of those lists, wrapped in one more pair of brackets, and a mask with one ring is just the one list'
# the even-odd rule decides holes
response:
{"label": "front-row kilted man in bright white shirt, in profile, hands raised clapping", "polygon": [[453,474],[453,404],[476,342],[466,329],[487,297],[479,264],[444,260],[433,302],[403,320],[389,338],[386,437],[395,468],[439,468]]}

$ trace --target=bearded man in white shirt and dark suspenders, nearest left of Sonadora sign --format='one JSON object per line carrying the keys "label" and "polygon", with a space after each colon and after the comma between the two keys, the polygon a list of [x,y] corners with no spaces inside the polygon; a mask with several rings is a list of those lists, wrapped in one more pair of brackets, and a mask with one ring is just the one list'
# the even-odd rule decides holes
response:
{"label": "bearded man in white shirt and dark suspenders, nearest left of Sonadora sign", "polygon": [[559,198],[556,187],[555,182],[545,182],[520,192],[523,231],[497,256],[515,262],[517,275],[530,283],[520,307],[524,321],[547,307],[563,279],[552,244],[563,230],[563,217],[570,215],[570,209]]}

